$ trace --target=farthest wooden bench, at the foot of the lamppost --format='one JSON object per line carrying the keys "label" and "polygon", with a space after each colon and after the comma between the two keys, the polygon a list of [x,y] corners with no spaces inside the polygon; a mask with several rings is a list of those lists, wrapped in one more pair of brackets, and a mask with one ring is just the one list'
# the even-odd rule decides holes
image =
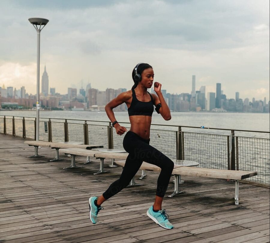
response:
{"label": "farthest wooden bench, at the foot of the lamppost", "polygon": [[93,149],[93,148],[103,148],[103,145],[94,145],[94,144],[64,144],[64,143],[55,143],[55,142],[46,142],[46,141],[25,141],[25,144],[35,147],[35,155],[29,156],[28,158],[44,157],[38,155],[38,147],[50,147],[55,149],[55,159],[51,159],[51,162],[60,161],[59,159],[59,149],[61,148],[80,148],[80,149]]}

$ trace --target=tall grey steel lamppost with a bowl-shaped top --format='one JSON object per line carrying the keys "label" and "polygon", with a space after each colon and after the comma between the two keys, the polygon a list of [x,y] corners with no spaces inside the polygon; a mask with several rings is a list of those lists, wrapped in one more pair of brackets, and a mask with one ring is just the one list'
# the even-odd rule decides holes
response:
{"label": "tall grey steel lamppost with a bowl-shaped top", "polygon": [[39,66],[40,66],[40,32],[44,28],[44,26],[49,22],[49,20],[41,19],[41,18],[30,18],[29,22],[35,27],[38,34],[38,53],[37,53],[37,119],[36,119],[36,141],[39,140]]}

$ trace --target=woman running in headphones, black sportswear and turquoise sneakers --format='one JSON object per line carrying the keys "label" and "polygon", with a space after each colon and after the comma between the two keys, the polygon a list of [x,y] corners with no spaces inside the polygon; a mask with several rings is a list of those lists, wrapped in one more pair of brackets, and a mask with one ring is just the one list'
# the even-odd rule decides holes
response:
{"label": "woman running in headphones, black sportswear and turquoise sneakers", "polygon": [[154,84],[154,90],[157,94],[150,94],[147,91],[152,87],[154,80],[152,66],[147,63],[137,64],[132,71],[132,78],[135,84],[131,90],[119,94],[105,106],[105,111],[112,122],[112,126],[116,129],[116,133],[122,135],[127,129],[116,121],[113,108],[124,102],[126,103],[131,128],[123,139],[123,147],[129,154],[120,178],[113,182],[101,196],[89,198],[90,219],[92,223],[97,222],[98,212],[103,209],[101,204],[127,187],[140,169],[143,161],[145,161],[161,168],[155,202],[147,210],[147,215],[161,227],[173,229],[165,209],[161,209],[161,204],[170,181],[174,163],[166,155],[149,145],[154,105],[155,110],[161,114],[164,120],[171,119],[170,109],[161,93],[160,83],[155,82]]}

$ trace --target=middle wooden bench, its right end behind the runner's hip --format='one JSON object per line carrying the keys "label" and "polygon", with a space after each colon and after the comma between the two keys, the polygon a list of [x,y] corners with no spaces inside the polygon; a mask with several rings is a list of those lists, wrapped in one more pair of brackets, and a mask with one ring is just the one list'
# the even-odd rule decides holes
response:
{"label": "middle wooden bench, its right end behind the runner's hip", "polygon": [[71,165],[64,169],[72,169],[72,168],[82,168],[81,166],[75,165],[75,156],[91,156],[95,157],[96,159],[100,159],[100,170],[94,175],[98,175],[101,173],[109,172],[104,170],[104,159],[126,159],[128,157],[128,153],[110,153],[110,152],[102,152],[96,150],[85,150],[82,148],[67,148],[67,149],[59,149],[61,153],[68,153],[71,155]]}

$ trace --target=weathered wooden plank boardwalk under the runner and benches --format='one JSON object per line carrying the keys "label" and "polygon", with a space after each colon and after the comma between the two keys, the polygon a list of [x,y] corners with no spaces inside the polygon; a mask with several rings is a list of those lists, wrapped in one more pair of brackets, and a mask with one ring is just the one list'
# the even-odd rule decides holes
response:
{"label": "weathered wooden plank boardwalk under the runner and benches", "polygon": [[[34,148],[21,138],[0,134],[0,242],[269,242],[269,187],[241,183],[234,205],[234,182],[182,176],[184,193],[164,197],[163,208],[175,226],[166,230],[146,216],[153,204],[158,173],[148,172],[143,186],[125,188],[103,204],[98,223],[89,220],[88,198],[103,193],[122,168],[93,175],[99,160],[81,169],[48,162],[55,150],[39,149],[43,158],[27,158]],[[78,157],[78,164],[85,157]],[[107,168],[108,167],[108,168]],[[142,182],[140,171],[135,177]],[[167,194],[173,192],[173,177]]]}

